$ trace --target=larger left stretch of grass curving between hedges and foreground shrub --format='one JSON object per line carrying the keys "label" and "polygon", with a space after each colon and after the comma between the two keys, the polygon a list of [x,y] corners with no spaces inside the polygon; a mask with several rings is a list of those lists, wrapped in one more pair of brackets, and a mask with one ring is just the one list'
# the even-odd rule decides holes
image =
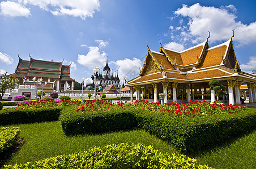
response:
{"label": "larger left stretch of grass curving between hedges and foreground shrub", "polygon": [[18,152],[12,155],[7,164],[34,162],[59,154],[71,154],[88,150],[94,146],[119,143],[142,143],[153,145],[160,152],[176,152],[164,141],[143,130],[110,132],[102,135],[66,136],[60,122],[20,124],[20,137],[24,143]]}

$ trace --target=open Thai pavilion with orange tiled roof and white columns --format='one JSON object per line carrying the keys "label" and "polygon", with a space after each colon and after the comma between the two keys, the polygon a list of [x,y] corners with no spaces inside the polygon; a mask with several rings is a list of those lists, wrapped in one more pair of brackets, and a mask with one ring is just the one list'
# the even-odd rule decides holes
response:
{"label": "open Thai pavilion with orange tiled roof and white columns", "polygon": [[[142,92],[146,99],[158,102],[159,93],[165,95],[164,103],[181,100],[216,100],[214,90],[209,90],[212,79],[224,85],[223,100],[229,104],[240,104],[240,86],[246,84],[249,90],[249,103],[256,103],[253,74],[240,70],[236,59],[232,38],[214,47],[208,46],[208,38],[203,43],[177,52],[161,45],[155,52],[148,47],[146,59],[138,77],[126,83],[131,94],[136,91],[136,99]],[[208,90],[207,90],[208,89]],[[131,101],[133,97],[131,97]]]}

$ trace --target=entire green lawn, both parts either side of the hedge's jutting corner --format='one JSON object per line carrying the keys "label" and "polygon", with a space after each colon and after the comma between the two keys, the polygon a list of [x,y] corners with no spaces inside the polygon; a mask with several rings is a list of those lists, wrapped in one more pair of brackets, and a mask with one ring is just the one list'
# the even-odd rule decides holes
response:
{"label": "entire green lawn, both parts either side of the hedge's jutting corner", "polygon": [[[153,145],[160,152],[176,152],[172,146],[143,130],[110,132],[101,135],[66,136],[60,122],[19,124],[24,143],[7,164],[33,162],[59,154],[71,154],[94,146],[119,143]],[[208,153],[194,156],[213,168],[256,168],[256,131]]]}

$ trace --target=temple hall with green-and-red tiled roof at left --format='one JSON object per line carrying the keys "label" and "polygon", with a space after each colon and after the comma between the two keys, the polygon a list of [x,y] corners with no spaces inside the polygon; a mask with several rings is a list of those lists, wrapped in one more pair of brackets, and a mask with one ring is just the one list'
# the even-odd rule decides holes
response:
{"label": "temple hall with green-and-red tiled roof at left", "polygon": [[[30,56],[30,55],[29,55]],[[44,91],[49,92],[67,90],[70,85],[71,90],[74,86],[74,79],[70,78],[70,65],[63,65],[62,62],[36,60],[30,57],[30,60],[23,60],[19,57],[19,63],[15,70],[15,73],[9,76],[19,79],[20,84],[23,85],[35,85],[33,77],[36,77],[36,81],[44,85]],[[38,85],[38,88],[42,88]]]}

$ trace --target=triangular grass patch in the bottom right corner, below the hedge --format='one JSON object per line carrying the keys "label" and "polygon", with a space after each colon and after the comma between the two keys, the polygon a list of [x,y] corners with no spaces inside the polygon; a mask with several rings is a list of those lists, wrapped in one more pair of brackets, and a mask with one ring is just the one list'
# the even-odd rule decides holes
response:
{"label": "triangular grass patch in the bottom right corner, below the hedge", "polygon": [[193,158],[213,168],[256,168],[256,131]]}

